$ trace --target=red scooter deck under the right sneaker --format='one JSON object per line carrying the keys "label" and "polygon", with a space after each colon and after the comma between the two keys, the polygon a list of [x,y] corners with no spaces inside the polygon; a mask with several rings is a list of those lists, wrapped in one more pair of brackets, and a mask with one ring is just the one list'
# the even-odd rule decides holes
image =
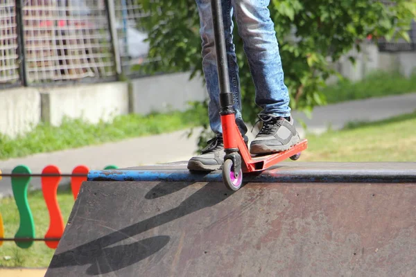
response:
{"label": "red scooter deck under the right sneaker", "polygon": [[252,156],[248,161],[242,161],[243,163],[243,172],[254,172],[254,171],[263,171],[270,166],[275,165],[281,161],[284,161],[290,157],[299,154],[303,150],[306,150],[308,145],[308,140],[303,139],[300,143],[293,145],[286,151],[278,152],[274,154],[266,154],[266,155],[255,155]]}

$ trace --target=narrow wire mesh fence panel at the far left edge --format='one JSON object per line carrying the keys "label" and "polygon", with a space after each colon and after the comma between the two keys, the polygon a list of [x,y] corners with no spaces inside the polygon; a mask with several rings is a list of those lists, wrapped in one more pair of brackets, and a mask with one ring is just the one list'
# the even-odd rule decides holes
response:
{"label": "narrow wire mesh fence panel at the far left edge", "polygon": [[14,0],[0,1],[0,84],[19,81],[17,21]]}

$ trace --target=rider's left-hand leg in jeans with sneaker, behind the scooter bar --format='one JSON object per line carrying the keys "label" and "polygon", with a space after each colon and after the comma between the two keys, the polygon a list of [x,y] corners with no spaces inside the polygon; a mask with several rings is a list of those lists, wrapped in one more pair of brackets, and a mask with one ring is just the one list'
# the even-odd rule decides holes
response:
{"label": "rider's left-hand leg in jeans with sneaker, behind the scooter bar", "polygon": [[[236,110],[236,123],[241,134],[245,135],[247,127],[241,118],[241,97],[239,68],[236,63],[236,53],[232,43],[232,6],[231,0],[223,0],[223,21],[225,28],[225,42],[228,58],[230,90],[234,94],[234,109]],[[202,38],[202,69],[207,81],[209,93],[209,123],[216,138],[208,142],[202,154],[192,157],[188,162],[189,170],[218,170],[224,163],[223,128],[220,120],[220,90],[218,84],[218,71],[216,50],[214,42],[214,26],[211,16],[211,0],[196,0],[200,15],[200,35]]]}

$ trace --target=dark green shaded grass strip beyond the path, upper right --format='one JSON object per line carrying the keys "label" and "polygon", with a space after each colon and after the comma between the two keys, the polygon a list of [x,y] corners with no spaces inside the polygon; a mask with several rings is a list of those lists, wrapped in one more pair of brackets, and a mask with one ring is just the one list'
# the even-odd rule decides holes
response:
{"label": "dark green shaded grass strip beyond the path, upper right", "polygon": [[344,80],[322,90],[328,104],[410,92],[416,92],[416,73],[406,78],[400,73],[374,72],[360,82]]}

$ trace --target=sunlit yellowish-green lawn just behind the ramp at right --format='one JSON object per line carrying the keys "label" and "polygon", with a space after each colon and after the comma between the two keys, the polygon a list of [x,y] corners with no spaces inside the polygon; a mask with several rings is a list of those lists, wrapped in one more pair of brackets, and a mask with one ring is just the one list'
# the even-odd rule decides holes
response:
{"label": "sunlit yellowish-green lawn just behind the ramp at right", "polygon": [[309,134],[302,161],[416,161],[416,111],[340,131]]}

